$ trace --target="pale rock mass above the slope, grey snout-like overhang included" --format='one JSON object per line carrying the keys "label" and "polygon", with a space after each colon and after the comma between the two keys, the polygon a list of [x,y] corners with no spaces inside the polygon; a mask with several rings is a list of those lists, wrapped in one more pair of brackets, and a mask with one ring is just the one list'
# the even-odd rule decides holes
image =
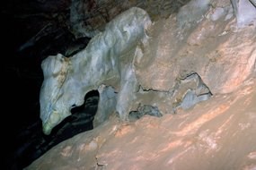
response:
{"label": "pale rock mass above the slope, grey snout-like overhang included", "polygon": [[[186,15],[200,2],[182,7],[176,20],[170,17],[154,24],[146,11],[133,7],[110,21],[80,53],[70,58],[49,56],[42,63],[43,131],[49,134],[93,89],[100,92],[94,123],[102,123],[113,112],[127,121],[139,105],[157,107],[163,115],[175,113],[207,100],[212,93],[238,89],[255,68],[253,28],[239,32],[249,39],[232,33],[229,1],[217,1],[220,7],[216,8],[209,8],[212,2],[205,1],[197,13]],[[216,24],[219,21],[225,27]],[[181,28],[187,23],[197,27],[186,33]]]}

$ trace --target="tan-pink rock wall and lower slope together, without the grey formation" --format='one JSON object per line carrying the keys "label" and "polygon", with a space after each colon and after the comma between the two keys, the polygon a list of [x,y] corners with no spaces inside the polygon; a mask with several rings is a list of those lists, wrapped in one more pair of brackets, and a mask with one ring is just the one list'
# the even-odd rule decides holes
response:
{"label": "tan-pink rock wall and lower slope together, without the grey formation", "polygon": [[[149,32],[146,57],[135,63],[137,80],[150,92],[145,104],[158,104],[163,116],[122,123],[112,115],[25,169],[255,169],[256,26],[239,28],[234,16],[215,11],[182,29],[171,15]],[[213,96],[171,115],[163,93],[191,72]]]}

